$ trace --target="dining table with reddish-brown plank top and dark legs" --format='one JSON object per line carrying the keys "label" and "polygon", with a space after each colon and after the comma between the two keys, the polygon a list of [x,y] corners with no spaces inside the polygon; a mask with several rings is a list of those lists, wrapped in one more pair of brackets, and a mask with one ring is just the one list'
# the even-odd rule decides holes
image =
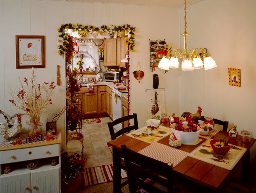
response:
{"label": "dining table with reddish-brown plank top and dark legs", "polygon": [[[160,128],[161,127],[170,127],[170,124],[161,123]],[[197,158],[196,156],[189,156],[189,154],[195,152],[198,147],[204,146],[203,144],[206,143],[206,140],[209,140],[204,138],[204,136],[199,135],[200,142],[195,145],[182,144],[179,147],[171,147],[169,145],[169,137],[170,135],[168,134],[157,142],[148,143],[147,141],[143,141],[126,134],[115,140],[109,141],[108,145],[111,146],[113,150],[113,192],[121,192],[121,145],[126,145],[129,149],[139,153],[143,152],[143,150],[146,150],[150,146],[158,145],[156,147],[159,148],[149,150],[156,153],[166,147],[169,149],[169,152],[171,152],[168,156],[173,157],[174,161],[176,158],[178,159],[178,156],[180,156],[179,154],[182,153],[181,158],[179,158],[181,160],[177,164],[173,165],[174,173],[191,180],[193,183],[200,184],[216,191],[219,190],[221,184],[223,184],[224,180],[230,175],[236,166],[241,167],[241,179],[244,182],[250,182],[250,148],[256,141],[254,138],[251,138],[249,143],[244,143],[241,141],[240,135],[236,139],[230,139],[228,137],[228,132],[219,130],[215,132],[214,135],[210,136],[210,140],[226,140],[229,145],[235,145],[236,147],[241,147],[245,150],[241,157],[237,158],[237,162],[234,163],[234,167],[232,167],[232,169],[226,169],[213,164],[213,162],[200,160],[200,158]]]}

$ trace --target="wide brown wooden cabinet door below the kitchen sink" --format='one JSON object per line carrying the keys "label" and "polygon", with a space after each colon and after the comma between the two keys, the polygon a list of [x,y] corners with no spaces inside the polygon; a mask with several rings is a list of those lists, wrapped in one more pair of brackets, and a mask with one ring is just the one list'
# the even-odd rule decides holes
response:
{"label": "wide brown wooden cabinet door below the kitchen sink", "polygon": [[97,92],[83,94],[83,112],[85,114],[98,113],[98,94],[97,94]]}

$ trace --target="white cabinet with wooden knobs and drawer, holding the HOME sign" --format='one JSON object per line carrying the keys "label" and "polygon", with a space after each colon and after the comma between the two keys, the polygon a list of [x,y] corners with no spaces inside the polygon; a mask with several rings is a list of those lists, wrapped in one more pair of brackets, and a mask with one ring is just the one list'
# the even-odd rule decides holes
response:
{"label": "white cabinet with wooden knobs and drawer, holding the HOME sign", "polygon": [[[59,130],[51,142],[44,140],[23,145],[1,142],[0,193],[59,193],[61,144]],[[52,165],[53,160],[56,165]],[[32,162],[37,167],[30,170],[26,165]],[[10,173],[4,172],[6,167],[10,168]]]}

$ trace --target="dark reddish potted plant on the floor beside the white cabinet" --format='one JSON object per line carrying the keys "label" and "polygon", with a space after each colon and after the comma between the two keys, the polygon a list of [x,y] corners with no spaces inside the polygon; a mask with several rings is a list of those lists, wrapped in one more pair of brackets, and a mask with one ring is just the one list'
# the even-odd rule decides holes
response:
{"label": "dark reddish potted plant on the floor beside the white cabinet", "polygon": [[80,183],[80,174],[85,171],[85,160],[78,153],[69,155],[61,151],[61,192],[76,192]]}

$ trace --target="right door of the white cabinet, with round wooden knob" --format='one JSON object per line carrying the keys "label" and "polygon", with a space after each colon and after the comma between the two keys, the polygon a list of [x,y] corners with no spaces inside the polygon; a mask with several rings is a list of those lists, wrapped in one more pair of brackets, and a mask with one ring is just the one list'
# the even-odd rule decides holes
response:
{"label": "right door of the white cabinet, with round wooden knob", "polygon": [[37,172],[31,171],[31,192],[59,193],[59,179],[58,167]]}

